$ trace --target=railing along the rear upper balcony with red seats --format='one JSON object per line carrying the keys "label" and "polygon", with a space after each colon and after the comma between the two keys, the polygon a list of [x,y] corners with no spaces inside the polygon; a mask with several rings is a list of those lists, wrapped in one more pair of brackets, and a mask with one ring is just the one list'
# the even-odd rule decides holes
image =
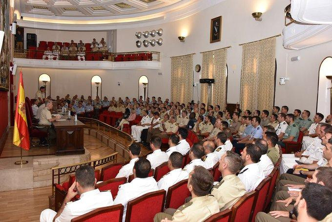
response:
{"label": "railing along the rear upper balcony with red seats", "polygon": [[[23,59],[45,59],[45,60],[64,60],[78,61],[78,52],[53,52],[35,49],[15,49],[15,58]],[[86,61],[110,61],[110,62],[127,62],[127,61],[160,61],[160,52],[138,51],[138,52],[91,52],[85,51]]]}

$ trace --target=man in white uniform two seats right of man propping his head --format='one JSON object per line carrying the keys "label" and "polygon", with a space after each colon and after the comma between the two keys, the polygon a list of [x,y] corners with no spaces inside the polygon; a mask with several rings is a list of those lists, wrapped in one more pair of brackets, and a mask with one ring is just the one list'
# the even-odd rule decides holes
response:
{"label": "man in white uniform two seats right of man propping his head", "polygon": [[182,170],[182,158],[183,156],[179,152],[173,152],[167,163],[169,172],[157,183],[160,190],[166,190],[166,195],[169,187],[188,178],[187,171]]}

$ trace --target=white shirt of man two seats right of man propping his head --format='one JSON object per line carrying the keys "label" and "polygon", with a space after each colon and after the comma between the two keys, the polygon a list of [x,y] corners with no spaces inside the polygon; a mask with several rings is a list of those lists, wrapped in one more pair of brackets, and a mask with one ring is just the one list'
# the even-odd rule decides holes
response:
{"label": "white shirt of man two seats right of man propping his head", "polygon": [[185,170],[182,170],[181,168],[172,170],[168,172],[166,175],[164,175],[159,181],[158,181],[158,188],[159,190],[166,190],[166,195],[168,188],[173,186],[174,184],[180,182],[181,180],[187,179],[188,173]]}

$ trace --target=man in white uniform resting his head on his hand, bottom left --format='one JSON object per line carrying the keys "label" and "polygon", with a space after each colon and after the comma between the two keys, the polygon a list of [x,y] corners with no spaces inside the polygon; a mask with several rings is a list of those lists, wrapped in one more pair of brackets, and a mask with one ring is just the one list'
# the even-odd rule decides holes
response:
{"label": "man in white uniform resting his head on his hand, bottom left", "polygon": [[[59,212],[51,209],[43,210],[40,217],[41,222],[69,222],[71,219],[97,208],[113,205],[110,191],[100,192],[95,189],[97,180],[91,166],[85,165],[78,168],[75,172],[75,178],[76,180],[69,188]],[[81,195],[79,200],[70,201],[78,194]]]}

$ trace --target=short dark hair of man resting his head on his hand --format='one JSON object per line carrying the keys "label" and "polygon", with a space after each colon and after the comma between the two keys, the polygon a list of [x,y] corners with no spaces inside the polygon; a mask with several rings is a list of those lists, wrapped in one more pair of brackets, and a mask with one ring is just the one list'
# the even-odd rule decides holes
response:
{"label": "short dark hair of man resting his head on his hand", "polygon": [[75,172],[75,178],[83,188],[95,187],[95,171],[90,165],[80,166]]}

